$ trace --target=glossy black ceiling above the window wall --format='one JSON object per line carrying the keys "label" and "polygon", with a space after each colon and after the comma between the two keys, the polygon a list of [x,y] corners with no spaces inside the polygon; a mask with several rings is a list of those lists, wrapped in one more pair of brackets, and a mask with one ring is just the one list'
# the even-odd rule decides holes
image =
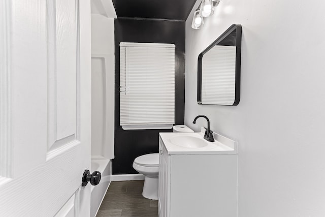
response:
{"label": "glossy black ceiling above the window wall", "polygon": [[196,0],[113,0],[117,18],[186,20]]}

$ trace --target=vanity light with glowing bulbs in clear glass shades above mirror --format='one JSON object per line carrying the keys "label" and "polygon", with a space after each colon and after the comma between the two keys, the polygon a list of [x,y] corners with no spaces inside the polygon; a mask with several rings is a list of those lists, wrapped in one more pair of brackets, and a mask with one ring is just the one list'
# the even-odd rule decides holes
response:
{"label": "vanity light with glowing bulbs in clear glass shades above mirror", "polygon": [[204,19],[212,16],[214,13],[214,7],[217,7],[220,0],[202,0],[199,8],[194,11],[192,28],[199,29],[204,26]]}

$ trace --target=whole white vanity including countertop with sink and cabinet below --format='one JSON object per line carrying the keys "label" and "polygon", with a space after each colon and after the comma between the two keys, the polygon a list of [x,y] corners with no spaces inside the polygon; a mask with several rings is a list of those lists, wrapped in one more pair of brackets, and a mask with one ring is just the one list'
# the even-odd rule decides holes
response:
{"label": "whole white vanity including countertop with sink and cabinet below", "polygon": [[159,133],[160,217],[237,216],[237,143],[203,135]]}

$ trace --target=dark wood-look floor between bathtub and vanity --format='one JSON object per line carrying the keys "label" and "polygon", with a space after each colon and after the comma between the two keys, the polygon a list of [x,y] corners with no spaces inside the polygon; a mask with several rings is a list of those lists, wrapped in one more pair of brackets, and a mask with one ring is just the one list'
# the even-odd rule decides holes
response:
{"label": "dark wood-look floor between bathtub and vanity", "polygon": [[112,181],[97,217],[156,217],[158,201],[142,196],[143,180]]}

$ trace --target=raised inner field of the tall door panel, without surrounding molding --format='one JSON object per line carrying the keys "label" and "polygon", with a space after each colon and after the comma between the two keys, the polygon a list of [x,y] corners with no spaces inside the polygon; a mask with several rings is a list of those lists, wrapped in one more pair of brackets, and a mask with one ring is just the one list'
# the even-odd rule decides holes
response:
{"label": "raised inner field of the tall door panel, without surrounding molding", "polygon": [[76,0],[56,0],[57,140],[76,135]]}

